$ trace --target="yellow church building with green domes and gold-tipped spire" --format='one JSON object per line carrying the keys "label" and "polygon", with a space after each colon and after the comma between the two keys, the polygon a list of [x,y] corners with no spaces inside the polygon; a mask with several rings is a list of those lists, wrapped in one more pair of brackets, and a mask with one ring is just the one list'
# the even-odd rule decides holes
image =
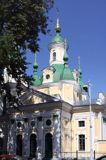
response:
{"label": "yellow church building with green domes and gold-tipped spire", "polygon": [[[49,65],[38,76],[35,54],[33,82],[24,87],[18,109],[0,116],[0,153],[28,160],[93,159],[106,154],[106,97],[90,97],[78,67],[68,64],[68,43],[57,19],[49,44]],[[2,106],[2,103],[0,103]]]}

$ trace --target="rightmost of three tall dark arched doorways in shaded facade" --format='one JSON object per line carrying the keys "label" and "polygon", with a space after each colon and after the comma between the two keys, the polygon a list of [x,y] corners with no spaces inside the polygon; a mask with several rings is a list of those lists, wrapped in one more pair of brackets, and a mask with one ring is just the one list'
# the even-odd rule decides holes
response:
{"label": "rightmost of three tall dark arched doorways in shaded facade", "polygon": [[45,135],[45,158],[52,158],[53,156],[53,142],[52,134],[47,133]]}

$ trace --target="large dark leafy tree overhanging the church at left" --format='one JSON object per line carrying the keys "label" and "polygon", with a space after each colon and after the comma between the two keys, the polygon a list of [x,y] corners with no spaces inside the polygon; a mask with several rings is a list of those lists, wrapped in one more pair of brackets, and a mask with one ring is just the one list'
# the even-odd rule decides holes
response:
{"label": "large dark leafy tree overhanging the church at left", "polygon": [[48,32],[48,11],[53,0],[1,0],[0,1],[0,94],[14,104],[4,70],[15,79],[17,95],[21,82],[29,82],[26,74],[26,50],[39,50],[39,33]]}

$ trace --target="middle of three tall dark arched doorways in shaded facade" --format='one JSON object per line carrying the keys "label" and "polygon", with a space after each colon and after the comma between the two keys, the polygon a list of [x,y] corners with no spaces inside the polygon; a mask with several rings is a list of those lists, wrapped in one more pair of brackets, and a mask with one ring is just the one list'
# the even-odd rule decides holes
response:
{"label": "middle of three tall dark arched doorways in shaded facade", "polygon": [[31,157],[36,157],[36,150],[37,150],[36,135],[31,134],[30,136],[30,156]]}

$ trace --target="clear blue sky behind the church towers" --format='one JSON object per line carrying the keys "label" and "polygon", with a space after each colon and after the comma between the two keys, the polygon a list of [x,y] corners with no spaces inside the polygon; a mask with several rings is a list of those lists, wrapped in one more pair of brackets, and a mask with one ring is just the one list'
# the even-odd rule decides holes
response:
{"label": "clear blue sky behind the church towers", "polygon": [[[59,13],[57,12],[57,8]],[[69,66],[77,68],[78,56],[81,58],[83,81],[92,82],[92,98],[98,92],[106,95],[106,0],[55,0],[49,12],[50,34],[40,35],[40,52],[37,55],[38,74],[49,65],[48,44],[55,35],[55,23],[59,17],[61,34],[67,39]],[[33,55],[28,55],[33,64]],[[33,74],[30,65],[28,74]]]}

